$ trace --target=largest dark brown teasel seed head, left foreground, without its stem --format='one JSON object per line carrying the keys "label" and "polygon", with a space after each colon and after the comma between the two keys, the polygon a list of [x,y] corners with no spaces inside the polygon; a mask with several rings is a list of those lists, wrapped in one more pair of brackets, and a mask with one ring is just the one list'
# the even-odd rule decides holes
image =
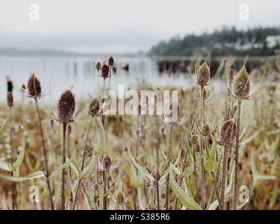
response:
{"label": "largest dark brown teasel seed head, left foreground, without its stem", "polygon": [[73,122],[75,105],[75,97],[71,90],[63,92],[57,104],[57,120],[59,123],[68,124]]}

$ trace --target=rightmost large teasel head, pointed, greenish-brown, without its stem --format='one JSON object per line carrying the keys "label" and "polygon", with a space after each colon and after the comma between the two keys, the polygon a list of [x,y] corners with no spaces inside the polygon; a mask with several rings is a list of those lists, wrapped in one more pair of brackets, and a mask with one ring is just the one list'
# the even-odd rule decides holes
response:
{"label": "rightmost large teasel head, pointed, greenish-brown, without its stem", "polygon": [[238,99],[248,98],[250,94],[250,77],[245,66],[235,75],[232,83],[232,92]]}

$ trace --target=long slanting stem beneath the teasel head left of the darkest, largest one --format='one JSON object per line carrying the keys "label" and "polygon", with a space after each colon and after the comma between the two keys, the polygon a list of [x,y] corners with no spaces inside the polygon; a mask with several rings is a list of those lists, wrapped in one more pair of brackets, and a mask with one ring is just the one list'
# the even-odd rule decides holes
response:
{"label": "long slanting stem beneath the teasel head left of the darkest, largest one", "polygon": [[39,111],[39,107],[38,107],[38,101],[37,98],[35,97],[35,104],[36,104],[36,111],[37,111],[37,115],[38,115],[38,120],[39,120],[39,125],[40,125],[40,132],[41,132],[41,139],[42,139],[42,146],[43,146],[43,155],[45,158],[45,177],[47,180],[47,185],[48,185],[48,193],[49,193],[49,197],[50,197],[50,208],[53,210],[53,201],[52,201],[52,190],[50,188],[50,180],[48,179],[48,177],[50,176],[49,170],[48,170],[48,156],[47,156],[47,150],[45,148],[45,139],[43,136],[43,127],[42,127],[42,123],[41,123],[41,116],[40,116],[40,111]]}

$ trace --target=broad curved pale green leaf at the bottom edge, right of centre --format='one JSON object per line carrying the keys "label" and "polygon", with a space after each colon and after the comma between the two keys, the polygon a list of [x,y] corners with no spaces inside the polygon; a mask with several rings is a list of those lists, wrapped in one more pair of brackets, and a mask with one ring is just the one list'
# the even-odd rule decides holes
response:
{"label": "broad curved pale green leaf at the bottom edge, right of centre", "polygon": [[178,197],[179,201],[184,207],[191,210],[202,210],[200,204],[197,204],[197,202],[195,202],[195,200],[190,197],[182,188],[180,188],[178,183],[176,183],[172,172],[170,172],[170,184],[174,194],[176,197]]}

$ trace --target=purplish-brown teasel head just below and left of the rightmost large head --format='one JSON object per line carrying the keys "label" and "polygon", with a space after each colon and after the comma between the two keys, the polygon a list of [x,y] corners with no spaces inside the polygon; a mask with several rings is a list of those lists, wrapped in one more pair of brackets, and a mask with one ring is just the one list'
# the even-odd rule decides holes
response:
{"label": "purplish-brown teasel head just below and left of the rightmost large head", "polygon": [[226,121],[220,130],[218,144],[221,146],[235,146],[236,123],[234,120]]}

